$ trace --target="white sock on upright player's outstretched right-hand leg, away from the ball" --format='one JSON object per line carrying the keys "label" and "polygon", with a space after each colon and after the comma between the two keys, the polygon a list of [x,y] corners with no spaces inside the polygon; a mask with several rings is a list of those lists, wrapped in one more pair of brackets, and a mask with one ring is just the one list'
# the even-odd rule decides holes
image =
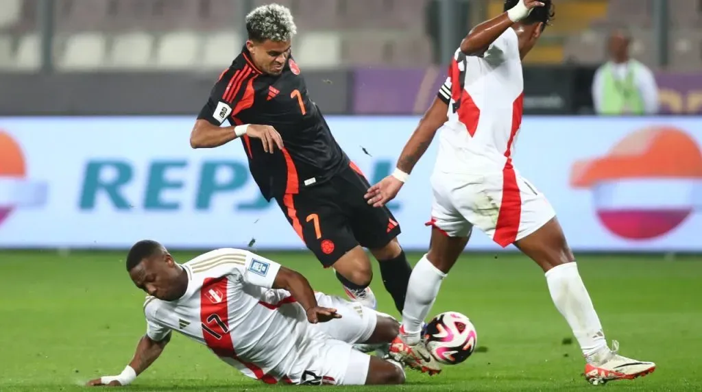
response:
{"label": "white sock on upright player's outstretched right-hand leg, away from the ball", "polygon": [[546,282],[556,308],[568,321],[583,356],[587,358],[607,347],[602,324],[585,289],[575,262],[560,264],[546,272]]}

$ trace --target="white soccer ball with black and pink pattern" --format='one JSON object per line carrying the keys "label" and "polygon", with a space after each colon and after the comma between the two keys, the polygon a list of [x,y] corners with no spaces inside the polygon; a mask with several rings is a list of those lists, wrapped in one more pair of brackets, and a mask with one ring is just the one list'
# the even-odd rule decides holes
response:
{"label": "white soccer ball with black and pink pattern", "polygon": [[449,311],[439,314],[426,325],[424,342],[437,361],[456,365],[467,360],[475,350],[477,332],[468,317]]}

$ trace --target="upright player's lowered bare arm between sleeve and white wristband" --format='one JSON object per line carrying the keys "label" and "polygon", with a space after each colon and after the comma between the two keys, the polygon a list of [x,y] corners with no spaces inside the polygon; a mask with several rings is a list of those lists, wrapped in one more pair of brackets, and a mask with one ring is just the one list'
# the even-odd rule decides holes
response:
{"label": "upright player's lowered bare arm between sleeve and white wristband", "polygon": [[399,159],[397,159],[397,168],[399,170],[404,171],[404,173],[411,173],[414,165],[417,164],[419,159],[429,148],[432,140],[434,140],[434,135],[436,135],[437,130],[441,128],[448,119],[448,111],[449,105],[438,97],[435,97],[432,106],[419,121],[416,130],[412,133],[404,149],[402,149],[402,154],[400,154]]}

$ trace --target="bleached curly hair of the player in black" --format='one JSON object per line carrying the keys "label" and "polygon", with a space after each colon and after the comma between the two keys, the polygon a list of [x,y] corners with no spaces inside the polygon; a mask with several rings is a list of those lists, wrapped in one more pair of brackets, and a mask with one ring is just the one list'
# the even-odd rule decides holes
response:
{"label": "bleached curly hair of the player in black", "polygon": [[290,41],[298,32],[289,8],[266,4],[246,15],[246,31],[251,41]]}

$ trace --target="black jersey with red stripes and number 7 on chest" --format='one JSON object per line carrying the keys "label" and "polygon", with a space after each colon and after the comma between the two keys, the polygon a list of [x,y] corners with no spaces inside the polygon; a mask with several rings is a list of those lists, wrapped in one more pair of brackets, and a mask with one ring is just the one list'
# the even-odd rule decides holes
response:
{"label": "black jersey with red stripes and number 7 on chest", "polygon": [[220,75],[198,119],[220,126],[260,124],[281,135],[284,149],[265,153],[258,139],[242,137],[249,170],[267,200],[329,180],[349,159],[331,135],[293,58],[282,74],[260,72],[244,49]]}

